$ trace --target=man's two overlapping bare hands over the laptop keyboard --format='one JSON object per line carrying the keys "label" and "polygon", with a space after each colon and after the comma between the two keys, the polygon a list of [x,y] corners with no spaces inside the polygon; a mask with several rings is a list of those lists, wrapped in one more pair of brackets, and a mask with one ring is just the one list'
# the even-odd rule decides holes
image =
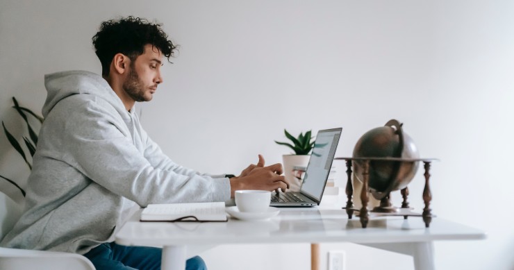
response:
{"label": "man's two overlapping bare hands over the laptop keyboard", "polygon": [[281,176],[283,172],[282,164],[276,163],[267,167],[263,166],[264,158],[262,155],[259,155],[257,165],[254,165],[254,167],[250,165],[247,169],[244,169],[241,176],[231,178],[231,197],[234,196],[236,190],[240,189],[268,190],[271,192],[279,189],[285,191],[285,189],[289,188],[288,180]]}

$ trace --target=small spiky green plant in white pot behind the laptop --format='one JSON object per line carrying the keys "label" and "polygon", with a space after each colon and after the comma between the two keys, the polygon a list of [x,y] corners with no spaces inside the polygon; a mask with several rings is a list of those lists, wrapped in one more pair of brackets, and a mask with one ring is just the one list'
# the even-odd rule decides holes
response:
{"label": "small spiky green plant in white pot behind the laptop", "polygon": [[285,137],[291,142],[276,142],[283,146],[288,146],[294,153],[282,155],[282,164],[284,167],[284,176],[290,183],[292,191],[299,191],[301,186],[301,178],[295,176],[295,168],[305,168],[309,162],[310,151],[314,147],[314,137],[312,132],[308,130],[305,134],[300,133],[298,137],[292,136],[288,130],[284,129]]}

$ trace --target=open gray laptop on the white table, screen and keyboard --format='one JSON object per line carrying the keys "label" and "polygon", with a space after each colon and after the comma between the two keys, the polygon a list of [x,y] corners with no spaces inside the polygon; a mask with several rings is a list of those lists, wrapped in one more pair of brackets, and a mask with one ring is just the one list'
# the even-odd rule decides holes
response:
{"label": "open gray laptop on the white table, screen and keyboard", "polygon": [[342,128],[331,128],[320,130],[317,133],[300,191],[272,193],[270,206],[313,207],[320,205],[341,131]]}

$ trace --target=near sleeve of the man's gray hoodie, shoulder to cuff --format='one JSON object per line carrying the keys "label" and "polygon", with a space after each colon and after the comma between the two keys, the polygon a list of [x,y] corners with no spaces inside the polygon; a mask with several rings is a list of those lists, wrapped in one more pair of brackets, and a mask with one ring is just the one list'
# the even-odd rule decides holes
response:
{"label": "near sleeve of the man's gray hoodie, shoulder to cuff", "polygon": [[159,164],[148,158],[164,155],[153,142],[141,153],[119,114],[96,101],[72,108],[64,128],[63,160],[110,192],[143,207],[149,203],[230,199],[227,178],[201,176],[174,167],[169,159],[161,158],[167,164]]}

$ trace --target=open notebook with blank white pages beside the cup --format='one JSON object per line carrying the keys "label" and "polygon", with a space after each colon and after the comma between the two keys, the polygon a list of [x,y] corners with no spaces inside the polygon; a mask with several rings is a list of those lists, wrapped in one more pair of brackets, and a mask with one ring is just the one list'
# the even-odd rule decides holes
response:
{"label": "open notebook with blank white pages beside the cup", "polygon": [[140,221],[227,221],[225,203],[159,203],[141,212]]}

